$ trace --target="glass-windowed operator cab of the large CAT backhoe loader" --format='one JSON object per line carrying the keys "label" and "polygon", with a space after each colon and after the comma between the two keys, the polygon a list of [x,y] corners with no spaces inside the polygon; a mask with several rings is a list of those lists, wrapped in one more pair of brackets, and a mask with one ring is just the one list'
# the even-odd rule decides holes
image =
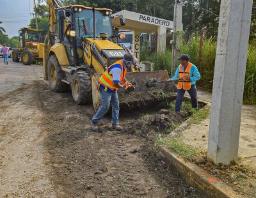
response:
{"label": "glass-windowed operator cab of the large CAT backhoe loader", "polygon": [[100,39],[100,34],[112,36],[111,11],[108,9],[69,6],[56,10],[55,43],[65,45],[70,65],[84,62],[83,42]]}

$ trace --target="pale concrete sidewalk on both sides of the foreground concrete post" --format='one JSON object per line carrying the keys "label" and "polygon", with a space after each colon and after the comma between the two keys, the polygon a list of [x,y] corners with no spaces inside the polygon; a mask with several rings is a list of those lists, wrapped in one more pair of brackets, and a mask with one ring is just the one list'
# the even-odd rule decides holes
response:
{"label": "pale concrete sidewalk on both sides of the foreground concrete post", "polygon": [[[188,93],[186,93],[188,94]],[[198,99],[211,103],[209,91],[198,89]],[[183,131],[183,141],[196,148],[207,149],[209,135],[209,118],[199,125],[191,125]],[[239,157],[244,165],[256,170],[256,105],[243,105],[239,139]]]}

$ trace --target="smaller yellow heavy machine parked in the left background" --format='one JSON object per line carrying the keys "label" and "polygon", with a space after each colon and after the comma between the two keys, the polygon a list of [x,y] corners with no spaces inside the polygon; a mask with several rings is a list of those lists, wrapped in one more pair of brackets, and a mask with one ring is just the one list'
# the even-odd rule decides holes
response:
{"label": "smaller yellow heavy machine parked in the left background", "polygon": [[21,27],[19,46],[13,49],[12,61],[31,65],[35,60],[43,59],[44,35],[39,29]]}

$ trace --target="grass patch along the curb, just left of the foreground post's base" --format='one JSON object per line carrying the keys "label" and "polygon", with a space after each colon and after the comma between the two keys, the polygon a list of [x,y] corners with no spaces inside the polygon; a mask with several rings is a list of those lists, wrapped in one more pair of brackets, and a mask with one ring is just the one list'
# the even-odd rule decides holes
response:
{"label": "grass patch along the curb, just left of the foreground post's base", "polygon": [[181,136],[182,133],[177,133],[169,139],[166,139],[159,135],[156,139],[156,143],[168,149],[172,149],[172,151],[175,151],[184,158],[191,160],[193,157],[195,157],[196,153],[198,153],[198,149],[188,144],[185,144],[180,139]]}

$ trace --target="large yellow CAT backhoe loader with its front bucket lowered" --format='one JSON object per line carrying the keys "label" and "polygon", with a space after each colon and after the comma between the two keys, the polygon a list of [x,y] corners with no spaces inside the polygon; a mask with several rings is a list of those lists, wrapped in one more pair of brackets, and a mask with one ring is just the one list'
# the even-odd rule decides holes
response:
{"label": "large yellow CAT backhoe loader with its front bucket lowered", "polygon": [[[55,92],[71,88],[77,104],[93,102],[98,109],[100,94],[97,79],[106,68],[122,59],[129,51],[113,42],[111,10],[81,5],[60,6],[56,0],[47,0],[49,6],[49,38],[44,45],[44,79]],[[124,25],[124,20],[120,19]],[[45,38],[46,39],[46,38]],[[45,40],[45,41],[47,41]],[[147,81],[168,78],[167,71],[139,72],[136,64],[127,72],[127,80],[134,93],[120,93],[120,103],[129,104],[127,97],[136,102],[145,92],[166,89],[166,84],[147,86]],[[118,90],[119,91],[119,90]],[[153,97],[154,93],[152,93]]]}

